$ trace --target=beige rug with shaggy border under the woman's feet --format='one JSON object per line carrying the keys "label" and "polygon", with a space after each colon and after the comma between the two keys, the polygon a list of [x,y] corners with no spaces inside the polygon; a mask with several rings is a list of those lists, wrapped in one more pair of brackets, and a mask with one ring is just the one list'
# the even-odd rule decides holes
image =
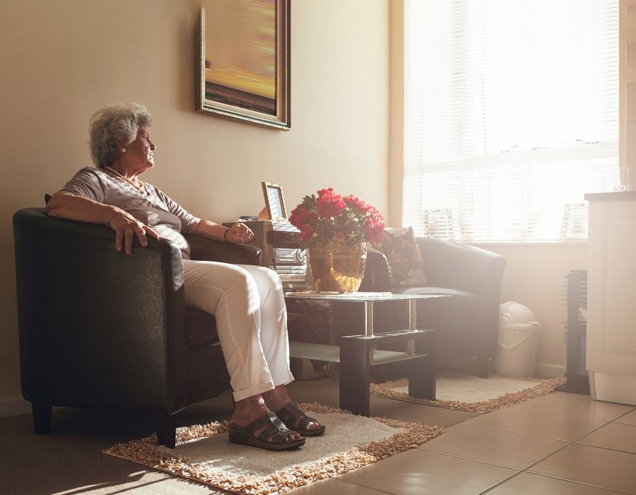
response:
{"label": "beige rug with shaggy border under the woman's feet", "polygon": [[177,429],[175,449],[158,445],[152,435],[104,453],[237,494],[282,494],[415,448],[442,433],[437,426],[298,405],[326,425],[323,436],[308,437],[298,450],[273,452],[230,443],[227,422],[215,422]]}

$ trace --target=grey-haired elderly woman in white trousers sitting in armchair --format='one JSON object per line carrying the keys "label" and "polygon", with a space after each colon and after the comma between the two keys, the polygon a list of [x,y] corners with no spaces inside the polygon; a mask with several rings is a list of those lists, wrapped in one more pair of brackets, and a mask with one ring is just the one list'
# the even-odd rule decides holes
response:
{"label": "grey-haired elderly woman in white trousers sitting in armchair", "polygon": [[218,338],[230,373],[235,407],[230,441],[270,450],[298,448],[303,436],[324,432],[291,402],[286,384],[289,343],[285,300],[276,272],[264,267],[189,260],[181,233],[242,243],[253,237],[243,223],[230,228],[189,214],[139,175],[155,165],[148,128],[152,116],[137,104],[112,105],[90,120],[86,167],[47,204],[47,214],[102,223],[115,231],[115,248],[130,255],[136,238],[167,238],[182,250],[185,299],[216,315]]}

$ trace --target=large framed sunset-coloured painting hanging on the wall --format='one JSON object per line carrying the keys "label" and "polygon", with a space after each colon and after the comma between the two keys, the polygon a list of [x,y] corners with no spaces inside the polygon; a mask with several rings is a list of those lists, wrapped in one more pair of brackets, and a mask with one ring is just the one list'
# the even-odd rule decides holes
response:
{"label": "large framed sunset-coloured painting hanging on the wall", "polygon": [[290,62],[290,0],[206,1],[196,110],[289,130]]}

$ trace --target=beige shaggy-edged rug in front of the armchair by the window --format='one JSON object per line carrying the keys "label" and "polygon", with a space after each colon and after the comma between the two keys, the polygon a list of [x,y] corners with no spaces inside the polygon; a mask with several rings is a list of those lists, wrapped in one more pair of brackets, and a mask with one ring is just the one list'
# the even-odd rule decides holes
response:
{"label": "beige shaggy-edged rug in front of the armchair by the window", "polygon": [[459,373],[438,373],[436,400],[410,397],[407,378],[372,383],[371,393],[390,399],[485,413],[549,394],[563,383],[563,377],[541,379],[490,375],[488,378],[479,378]]}

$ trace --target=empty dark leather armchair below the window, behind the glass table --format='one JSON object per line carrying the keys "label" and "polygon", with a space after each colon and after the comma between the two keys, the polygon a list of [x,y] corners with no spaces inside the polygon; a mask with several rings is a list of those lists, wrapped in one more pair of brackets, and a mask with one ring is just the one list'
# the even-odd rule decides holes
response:
{"label": "empty dark leather armchair below the window, behind the glass table", "polygon": [[[396,292],[449,296],[418,301],[418,328],[435,330],[438,358],[476,357],[478,375],[488,375],[490,358],[497,352],[505,259],[488,250],[446,240],[417,238],[417,241],[427,285]],[[389,264],[381,252],[370,250],[360,291],[391,291]],[[375,328],[378,331],[407,328],[408,312],[403,306],[379,305]],[[334,308],[334,313],[336,310]],[[352,318],[363,318],[363,315],[348,313],[334,315],[340,334],[354,327]]]}

